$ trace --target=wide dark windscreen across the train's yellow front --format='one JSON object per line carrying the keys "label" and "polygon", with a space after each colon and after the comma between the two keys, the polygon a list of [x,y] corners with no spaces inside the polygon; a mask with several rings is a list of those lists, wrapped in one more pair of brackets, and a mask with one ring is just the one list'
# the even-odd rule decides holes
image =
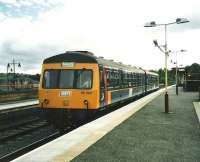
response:
{"label": "wide dark windscreen across the train's yellow front", "polygon": [[90,89],[92,88],[92,70],[45,70],[43,88]]}

